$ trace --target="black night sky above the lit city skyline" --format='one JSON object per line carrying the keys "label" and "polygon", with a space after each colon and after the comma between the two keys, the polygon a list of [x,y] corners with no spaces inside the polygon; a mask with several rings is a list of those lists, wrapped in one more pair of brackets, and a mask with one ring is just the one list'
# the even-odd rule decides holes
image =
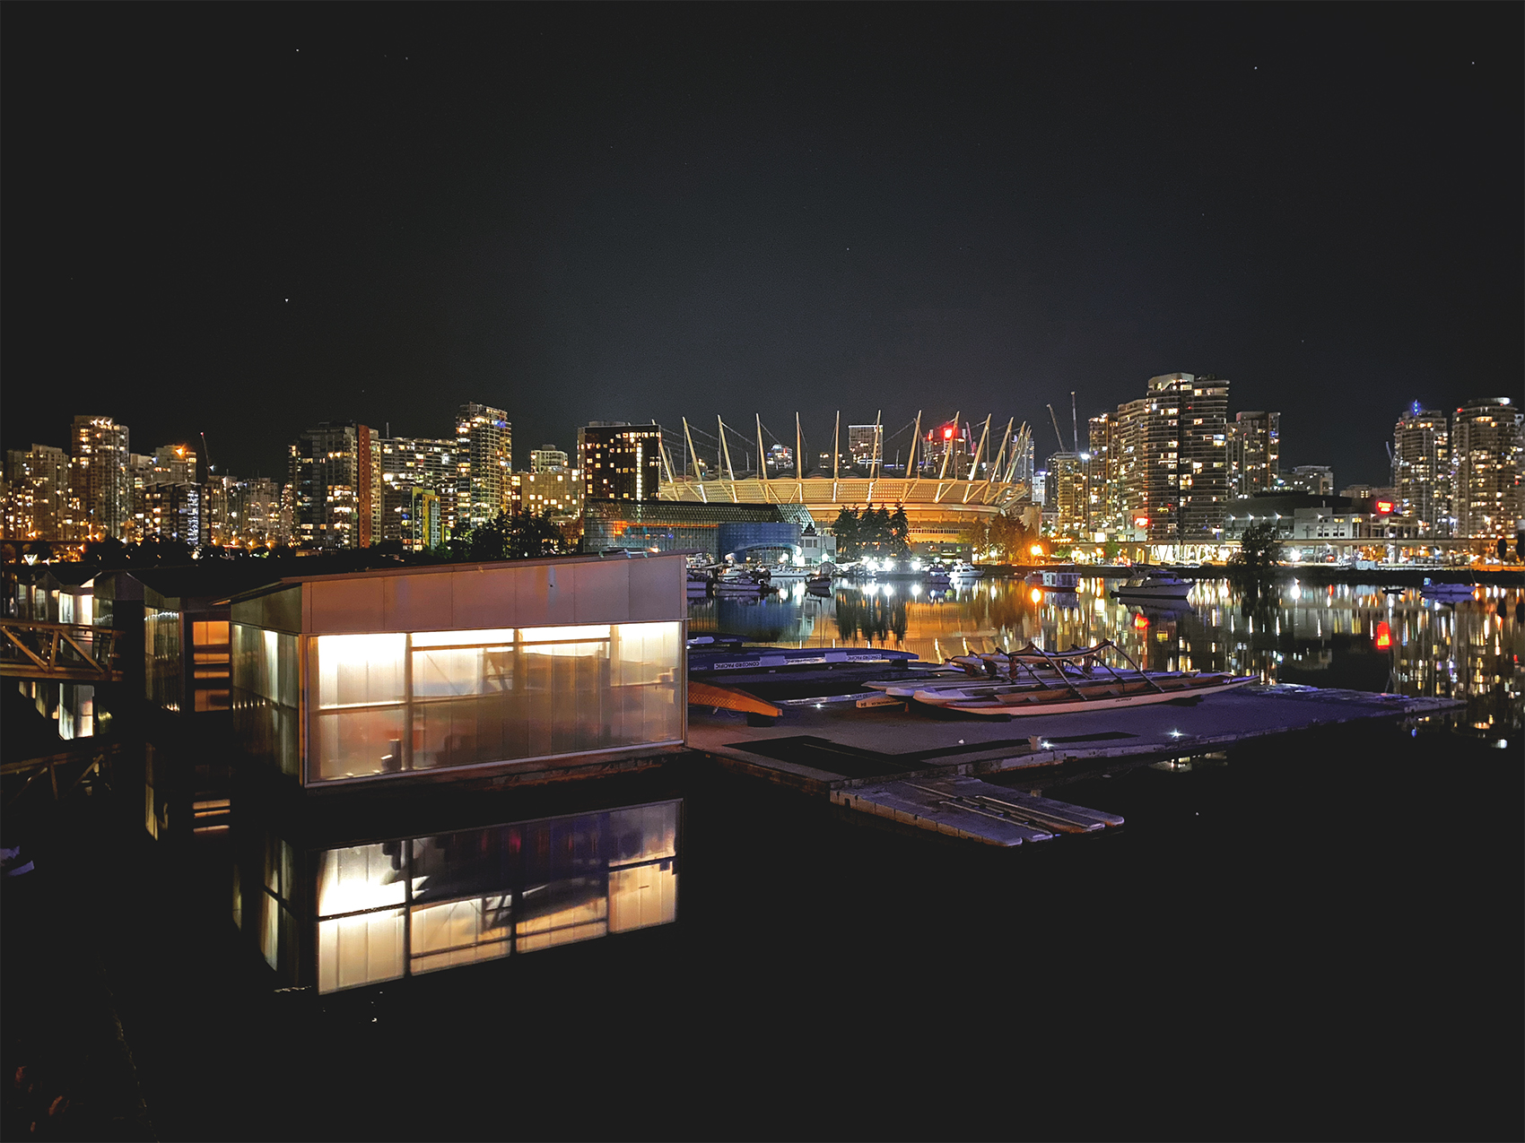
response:
{"label": "black night sky above the lit city skyline", "polygon": [[1385,482],[1405,404],[1522,389],[1522,11],[9,5],[0,431],[1046,456],[1179,369]]}

